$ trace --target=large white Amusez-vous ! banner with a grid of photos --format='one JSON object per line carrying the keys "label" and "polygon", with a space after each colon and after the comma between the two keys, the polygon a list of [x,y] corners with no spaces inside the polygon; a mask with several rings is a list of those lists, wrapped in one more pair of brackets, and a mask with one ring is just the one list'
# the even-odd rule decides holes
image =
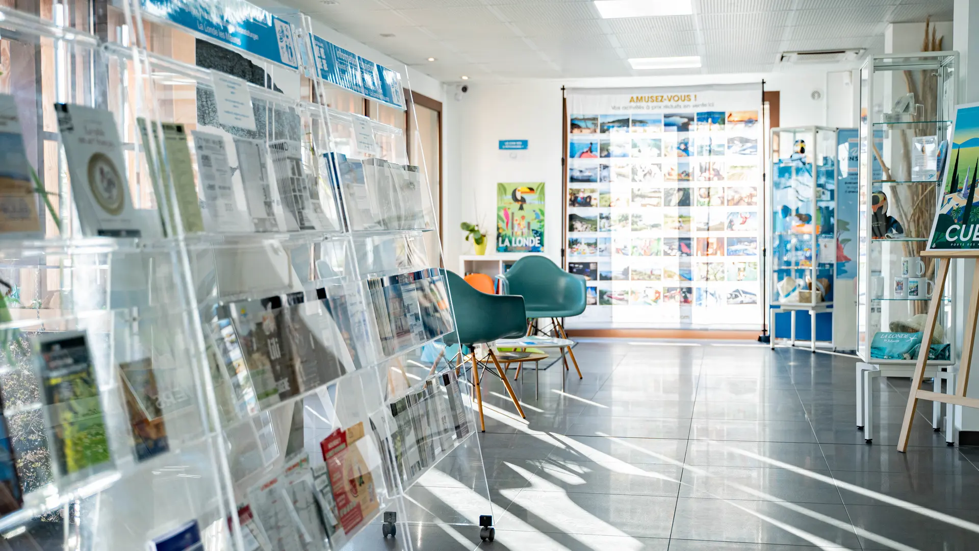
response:
{"label": "large white Amusez-vous ! banner with a grid of photos", "polygon": [[746,328],[759,305],[761,84],[571,89],[569,326]]}

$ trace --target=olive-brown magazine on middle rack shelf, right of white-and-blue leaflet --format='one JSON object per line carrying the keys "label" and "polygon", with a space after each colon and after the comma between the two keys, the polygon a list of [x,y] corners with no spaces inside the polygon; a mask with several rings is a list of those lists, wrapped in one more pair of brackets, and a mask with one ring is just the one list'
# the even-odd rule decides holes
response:
{"label": "olive-brown magazine on middle rack shelf, right of white-and-blue leaflet", "polygon": [[292,348],[287,345],[282,299],[273,296],[235,302],[231,314],[245,350],[245,364],[256,386],[258,404],[264,409],[298,394],[300,384]]}

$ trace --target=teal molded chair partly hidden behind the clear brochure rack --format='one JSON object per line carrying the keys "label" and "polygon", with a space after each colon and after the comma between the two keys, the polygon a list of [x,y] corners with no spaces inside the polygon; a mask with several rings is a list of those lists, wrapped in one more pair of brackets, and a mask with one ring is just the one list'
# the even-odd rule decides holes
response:
{"label": "teal molded chair partly hidden behind the clear brochure rack", "polygon": [[[446,345],[464,344],[469,350],[468,356],[473,364],[473,385],[476,387],[476,402],[480,410],[480,430],[486,431],[486,421],[483,419],[483,393],[480,390],[479,363],[476,358],[476,344],[493,342],[500,338],[517,338],[524,336],[527,331],[527,312],[524,309],[524,298],[513,295],[491,295],[477,290],[465,279],[443,270],[448,297],[455,311],[455,330],[444,336]],[[460,363],[466,363],[463,354]],[[506,391],[517,407],[520,417],[527,419],[524,409],[520,407],[517,395],[506,379],[506,374],[499,365],[492,348],[489,349],[489,359],[492,360],[496,373],[506,386]],[[459,365],[459,364],[457,364]]]}

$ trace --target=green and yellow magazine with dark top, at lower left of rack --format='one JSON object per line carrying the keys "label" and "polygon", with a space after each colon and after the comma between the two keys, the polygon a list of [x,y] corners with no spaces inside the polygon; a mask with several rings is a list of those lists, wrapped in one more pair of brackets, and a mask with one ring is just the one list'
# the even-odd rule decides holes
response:
{"label": "green and yellow magazine with dark top, at lower left of rack", "polygon": [[34,337],[52,464],[74,482],[114,468],[95,366],[84,331]]}

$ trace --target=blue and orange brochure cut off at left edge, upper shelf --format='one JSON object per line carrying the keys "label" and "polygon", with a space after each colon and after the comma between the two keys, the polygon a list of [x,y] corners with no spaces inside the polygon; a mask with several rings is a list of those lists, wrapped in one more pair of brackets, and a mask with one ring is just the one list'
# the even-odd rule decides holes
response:
{"label": "blue and orange brochure cut off at left edge, upper shelf", "polygon": [[0,238],[43,237],[14,96],[0,94]]}

